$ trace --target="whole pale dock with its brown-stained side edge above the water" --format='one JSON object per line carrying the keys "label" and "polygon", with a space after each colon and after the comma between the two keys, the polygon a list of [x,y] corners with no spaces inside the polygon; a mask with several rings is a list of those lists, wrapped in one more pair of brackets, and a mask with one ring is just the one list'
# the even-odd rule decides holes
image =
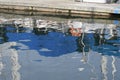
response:
{"label": "whole pale dock with its brown-stained side edge above the water", "polygon": [[[120,4],[75,2],[74,0],[0,0],[0,10],[28,14],[110,16],[120,14]],[[11,10],[11,11],[10,11]]]}

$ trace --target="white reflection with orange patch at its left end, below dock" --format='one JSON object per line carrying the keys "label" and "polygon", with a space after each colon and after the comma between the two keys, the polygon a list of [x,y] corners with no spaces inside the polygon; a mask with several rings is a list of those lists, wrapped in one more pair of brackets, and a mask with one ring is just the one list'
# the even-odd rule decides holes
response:
{"label": "white reflection with orange patch at its left end, below dock", "polygon": [[[76,21],[68,21],[70,33],[73,36],[81,36],[82,33],[96,33],[98,35],[104,35],[105,39],[111,39],[116,34],[116,26],[113,24],[91,24]],[[76,35],[75,35],[76,34]],[[79,35],[77,35],[79,34]]]}

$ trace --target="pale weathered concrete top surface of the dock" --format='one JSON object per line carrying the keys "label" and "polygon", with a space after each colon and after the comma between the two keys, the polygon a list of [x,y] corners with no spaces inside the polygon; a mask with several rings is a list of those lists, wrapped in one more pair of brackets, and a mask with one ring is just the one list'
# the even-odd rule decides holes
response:
{"label": "pale weathered concrete top surface of the dock", "polygon": [[97,4],[97,3],[81,3],[74,0],[0,0],[0,8],[22,9],[22,10],[41,10],[50,9],[48,11],[67,10],[67,13],[100,12],[120,14],[120,4]]}

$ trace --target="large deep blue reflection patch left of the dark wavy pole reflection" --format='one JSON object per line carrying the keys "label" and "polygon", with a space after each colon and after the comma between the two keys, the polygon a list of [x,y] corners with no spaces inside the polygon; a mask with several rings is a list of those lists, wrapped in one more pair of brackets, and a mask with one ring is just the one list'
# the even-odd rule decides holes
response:
{"label": "large deep blue reflection patch left of the dark wavy pole reflection", "polygon": [[[22,43],[44,56],[60,56],[77,49],[76,38],[65,36],[60,32],[50,32],[39,36],[33,33],[7,33],[7,36],[9,36],[9,41]],[[20,49],[20,46],[17,48]]]}

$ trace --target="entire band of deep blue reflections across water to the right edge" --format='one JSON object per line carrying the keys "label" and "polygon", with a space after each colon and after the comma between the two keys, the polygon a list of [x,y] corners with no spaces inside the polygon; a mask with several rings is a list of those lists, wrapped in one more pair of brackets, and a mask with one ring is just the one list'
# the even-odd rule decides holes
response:
{"label": "entire band of deep blue reflections across water to the right edge", "polygon": [[[8,30],[12,30],[12,28],[8,28]],[[23,29],[24,30],[24,29]],[[77,37],[66,36],[60,32],[49,32],[46,35],[35,35],[30,32],[8,32],[7,36],[9,37],[9,41],[15,41],[18,43],[22,43],[28,47],[28,49],[37,50],[40,55],[43,56],[60,56],[63,54],[75,52],[77,49],[83,49],[79,43],[77,43]],[[99,44],[99,41],[95,41],[97,38],[94,37],[93,33],[84,34],[84,51],[89,51],[92,49],[94,51],[103,53],[103,55],[114,55],[119,56],[119,45],[120,39],[117,38],[115,40],[107,40],[106,42],[95,46],[95,44]],[[78,41],[81,41],[78,39]],[[20,49],[20,46],[16,48]],[[79,51],[79,50],[78,50]]]}

